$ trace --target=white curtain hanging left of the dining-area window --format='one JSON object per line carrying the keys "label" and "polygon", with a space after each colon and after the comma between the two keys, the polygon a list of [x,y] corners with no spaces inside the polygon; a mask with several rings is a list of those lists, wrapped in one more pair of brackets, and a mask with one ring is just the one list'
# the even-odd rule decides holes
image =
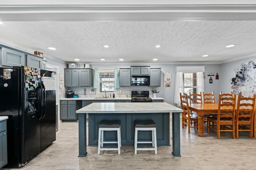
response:
{"label": "white curtain hanging left of the dining-area window", "polygon": [[180,93],[183,94],[183,73],[176,72],[175,89],[174,89],[174,104],[180,106]]}

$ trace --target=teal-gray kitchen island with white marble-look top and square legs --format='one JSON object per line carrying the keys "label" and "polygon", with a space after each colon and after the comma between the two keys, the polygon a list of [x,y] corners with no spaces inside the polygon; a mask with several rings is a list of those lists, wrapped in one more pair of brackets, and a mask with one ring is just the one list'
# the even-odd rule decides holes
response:
{"label": "teal-gray kitchen island with white marble-look top and square legs", "polygon": [[[78,109],[79,155],[86,156],[86,113],[89,113],[89,145],[96,145],[98,123],[102,119],[121,121],[122,145],[133,145],[135,119],[156,122],[158,145],[170,145],[170,113],[172,113],[172,154],[180,156],[180,113],[182,109],[168,103],[92,103]],[[149,135],[149,134],[148,134]],[[111,138],[113,134],[109,134]],[[147,138],[147,135],[142,136]]]}

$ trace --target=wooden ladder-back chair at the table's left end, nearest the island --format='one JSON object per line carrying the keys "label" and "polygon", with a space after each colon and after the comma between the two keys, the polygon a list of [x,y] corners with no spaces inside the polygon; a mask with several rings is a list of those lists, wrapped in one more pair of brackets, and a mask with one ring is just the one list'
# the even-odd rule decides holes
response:
{"label": "wooden ladder-back chair at the table's left end, nearest the island", "polygon": [[188,104],[188,94],[182,95],[180,93],[180,105],[183,109],[182,113],[182,128],[188,126],[188,133],[190,133],[190,128],[198,128],[198,118],[196,114],[192,114],[189,109]]}

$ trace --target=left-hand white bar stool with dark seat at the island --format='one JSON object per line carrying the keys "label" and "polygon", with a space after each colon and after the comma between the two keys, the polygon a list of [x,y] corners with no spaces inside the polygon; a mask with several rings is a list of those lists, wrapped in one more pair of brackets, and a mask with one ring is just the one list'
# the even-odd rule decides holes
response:
{"label": "left-hand white bar stool with dark seat at the island", "polygon": [[[100,150],[118,150],[120,154],[121,147],[121,128],[119,120],[102,120],[98,125],[98,154]],[[117,141],[104,141],[104,131],[116,131],[117,132]],[[117,143],[117,148],[102,148],[104,143]]]}

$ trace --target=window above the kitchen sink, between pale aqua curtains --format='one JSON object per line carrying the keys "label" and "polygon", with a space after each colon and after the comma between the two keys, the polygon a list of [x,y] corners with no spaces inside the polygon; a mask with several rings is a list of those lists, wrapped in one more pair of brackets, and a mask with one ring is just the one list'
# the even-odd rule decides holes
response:
{"label": "window above the kitchen sink, between pale aqua curtains", "polygon": [[114,92],[115,73],[114,69],[100,69],[98,92]]}

